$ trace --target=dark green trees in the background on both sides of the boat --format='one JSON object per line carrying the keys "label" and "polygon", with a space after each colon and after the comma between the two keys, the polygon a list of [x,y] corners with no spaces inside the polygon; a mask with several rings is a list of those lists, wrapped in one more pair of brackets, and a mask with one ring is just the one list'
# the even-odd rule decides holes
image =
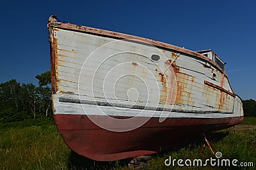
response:
{"label": "dark green trees in the background on both sides of the boat", "polygon": [[[53,117],[51,72],[37,74],[38,85],[15,79],[0,83],[0,122],[18,122],[28,118]],[[256,101],[243,100],[245,117],[256,117]]]}

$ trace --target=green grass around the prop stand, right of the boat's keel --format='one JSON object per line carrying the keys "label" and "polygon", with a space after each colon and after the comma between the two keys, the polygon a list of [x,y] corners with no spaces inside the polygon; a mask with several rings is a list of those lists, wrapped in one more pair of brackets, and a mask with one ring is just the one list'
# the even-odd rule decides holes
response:
{"label": "green grass around the prop stand, right of the boat's keel", "polygon": [[[215,148],[222,153],[223,159],[237,159],[239,162],[253,162],[253,167],[246,167],[244,169],[255,169],[256,164],[256,131],[236,131],[236,134],[232,129],[214,132],[214,136],[209,139]],[[210,136],[211,137],[211,136]],[[191,144],[189,146],[182,147],[178,150],[171,150],[162,155],[159,153],[152,158],[152,169],[166,169],[164,160],[169,156],[172,159],[202,159],[206,160],[211,157],[211,153],[208,148],[204,148],[200,153],[202,144]],[[184,163],[184,162],[183,162]],[[172,169],[173,167],[167,167]],[[175,166],[175,169],[184,169],[184,167]],[[205,167],[189,167],[189,169],[205,169]],[[207,166],[206,169],[227,169],[227,167],[212,167]],[[232,169],[232,168],[231,168]],[[233,169],[236,169],[233,167]],[[243,168],[241,168],[243,169]]]}

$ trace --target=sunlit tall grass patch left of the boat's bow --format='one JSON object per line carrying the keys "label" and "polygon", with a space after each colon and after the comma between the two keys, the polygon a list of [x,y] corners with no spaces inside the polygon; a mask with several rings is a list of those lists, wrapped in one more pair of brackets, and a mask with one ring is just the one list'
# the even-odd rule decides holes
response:
{"label": "sunlit tall grass patch left of the boat's bow", "polygon": [[55,125],[10,128],[0,132],[2,169],[62,169],[70,150]]}

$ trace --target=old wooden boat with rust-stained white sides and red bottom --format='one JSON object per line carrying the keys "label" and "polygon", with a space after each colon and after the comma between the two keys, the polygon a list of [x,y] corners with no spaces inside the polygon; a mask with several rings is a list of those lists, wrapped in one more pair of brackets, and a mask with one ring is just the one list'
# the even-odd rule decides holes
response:
{"label": "old wooden boat with rust-stained white sides and red bottom", "polygon": [[49,18],[52,105],[74,152],[109,161],[150,155],[243,120],[212,50]]}

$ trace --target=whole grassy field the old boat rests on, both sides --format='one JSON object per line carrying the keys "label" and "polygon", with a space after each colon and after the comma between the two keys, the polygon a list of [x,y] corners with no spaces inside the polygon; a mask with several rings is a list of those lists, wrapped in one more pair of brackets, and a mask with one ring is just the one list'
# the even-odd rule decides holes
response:
{"label": "whole grassy field the old boat rests on, both sides", "polygon": [[[255,118],[245,118],[242,125],[256,125]],[[239,162],[253,162],[256,168],[256,130],[239,129],[234,132],[230,128],[214,132],[209,136],[212,144],[222,153],[223,159],[237,159]],[[208,148],[202,153],[202,141],[194,141],[189,145],[174,148],[168,152],[152,155],[149,169],[173,169],[166,167],[164,160],[172,159],[202,159],[211,157]],[[188,167],[187,167],[188,168]],[[185,169],[187,169],[185,167]],[[127,160],[114,162],[95,162],[70,152],[61,139],[52,121],[22,122],[1,125],[0,130],[0,169],[129,169]],[[175,169],[184,167],[175,166]],[[189,169],[200,169],[190,167]],[[205,167],[201,167],[205,169]],[[227,167],[211,167],[206,169],[227,169]],[[231,168],[232,169],[232,168]],[[233,167],[233,169],[235,169]]]}

